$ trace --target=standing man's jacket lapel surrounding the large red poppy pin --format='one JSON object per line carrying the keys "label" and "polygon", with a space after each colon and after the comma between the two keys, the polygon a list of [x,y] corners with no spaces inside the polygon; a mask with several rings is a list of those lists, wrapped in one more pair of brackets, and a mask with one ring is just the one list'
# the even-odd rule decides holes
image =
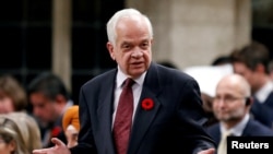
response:
{"label": "standing man's jacket lapel surrounding the large red poppy pin", "polygon": [[[158,80],[156,66],[152,63],[146,73],[140,102],[134,116],[135,118],[133,120],[128,153],[135,153],[135,151],[138,151],[142,139],[161,107],[161,103],[157,99],[157,94],[161,92]],[[145,98],[151,98],[154,103],[154,107],[151,110],[144,110],[141,106],[142,100]]]}

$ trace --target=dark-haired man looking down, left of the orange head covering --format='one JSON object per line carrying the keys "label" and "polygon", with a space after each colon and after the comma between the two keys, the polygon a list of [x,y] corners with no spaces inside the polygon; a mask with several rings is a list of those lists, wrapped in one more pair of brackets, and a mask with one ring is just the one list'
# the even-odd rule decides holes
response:
{"label": "dark-haired man looking down, left of the orange head covering", "polygon": [[73,102],[62,80],[51,72],[44,72],[28,84],[27,93],[33,115],[40,127],[43,146],[51,146],[51,138],[67,143],[62,130],[62,115]]}

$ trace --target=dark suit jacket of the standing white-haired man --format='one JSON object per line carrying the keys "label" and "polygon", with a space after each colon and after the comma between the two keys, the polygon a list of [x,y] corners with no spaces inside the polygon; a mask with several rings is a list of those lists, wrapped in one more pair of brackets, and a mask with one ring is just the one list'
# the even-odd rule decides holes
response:
{"label": "dark suit jacket of the standing white-haired man", "polygon": [[[79,145],[72,154],[115,154],[112,103],[117,69],[85,83],[80,92]],[[152,98],[154,108],[141,102]],[[192,154],[214,147],[202,125],[206,121],[197,82],[179,70],[152,63],[133,120],[128,154]]]}

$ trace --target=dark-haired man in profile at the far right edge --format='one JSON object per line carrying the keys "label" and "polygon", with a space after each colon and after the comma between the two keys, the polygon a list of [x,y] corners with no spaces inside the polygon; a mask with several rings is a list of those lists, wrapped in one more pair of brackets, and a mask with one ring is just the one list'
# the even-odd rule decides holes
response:
{"label": "dark-haired man in profile at the far right edge", "polygon": [[273,129],[273,82],[269,75],[269,49],[258,42],[251,42],[232,52],[235,73],[241,74],[251,86],[254,103],[251,115]]}

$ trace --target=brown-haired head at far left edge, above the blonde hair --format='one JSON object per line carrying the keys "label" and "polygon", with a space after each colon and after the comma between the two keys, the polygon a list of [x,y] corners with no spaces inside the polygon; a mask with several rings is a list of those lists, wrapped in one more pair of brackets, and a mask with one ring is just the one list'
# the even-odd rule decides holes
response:
{"label": "brown-haired head at far left edge, above the blonde hair", "polygon": [[25,88],[10,74],[0,76],[0,114],[26,111]]}

